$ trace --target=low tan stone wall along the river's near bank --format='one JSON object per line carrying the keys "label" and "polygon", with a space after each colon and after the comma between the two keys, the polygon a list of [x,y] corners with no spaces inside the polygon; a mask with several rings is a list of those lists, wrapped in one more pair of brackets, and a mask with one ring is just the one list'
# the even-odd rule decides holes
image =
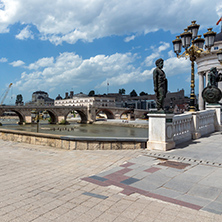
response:
{"label": "low tan stone wall along the river's near bank", "polygon": [[0,139],[66,150],[145,149],[144,138],[74,137],[0,129]]}

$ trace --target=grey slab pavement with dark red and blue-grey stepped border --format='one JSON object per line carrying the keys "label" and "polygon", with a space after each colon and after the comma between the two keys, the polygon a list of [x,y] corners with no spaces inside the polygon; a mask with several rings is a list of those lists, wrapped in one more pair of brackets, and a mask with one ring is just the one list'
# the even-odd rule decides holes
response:
{"label": "grey slab pavement with dark red and blue-grey stepped border", "polygon": [[[222,159],[218,162],[217,154],[217,162],[213,160],[214,153],[222,155],[221,137],[220,133],[215,133],[214,137],[195,141],[200,142],[202,149],[199,156],[206,156],[206,152],[209,160],[195,158],[198,146],[191,148],[190,152],[187,149],[147,152],[83,180],[100,186],[117,186],[123,189],[121,193],[125,195],[138,193],[195,210],[222,214]],[[208,149],[204,149],[204,144],[206,146],[209,140],[212,140],[211,146],[214,145],[214,148],[208,146]],[[193,159],[192,152],[195,152]]]}

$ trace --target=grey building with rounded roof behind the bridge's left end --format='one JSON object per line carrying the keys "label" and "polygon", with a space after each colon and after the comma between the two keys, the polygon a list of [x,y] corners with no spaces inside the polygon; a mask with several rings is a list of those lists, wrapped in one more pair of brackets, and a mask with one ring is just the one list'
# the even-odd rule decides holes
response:
{"label": "grey building with rounded roof behind the bridge's left end", "polygon": [[49,98],[47,92],[36,91],[32,94],[32,101],[27,102],[26,106],[37,105],[37,106],[53,106],[54,99]]}

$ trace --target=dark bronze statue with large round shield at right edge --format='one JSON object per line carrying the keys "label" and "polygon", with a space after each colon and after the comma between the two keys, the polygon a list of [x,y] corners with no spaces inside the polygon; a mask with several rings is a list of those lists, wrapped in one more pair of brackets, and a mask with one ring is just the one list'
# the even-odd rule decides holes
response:
{"label": "dark bronze statue with large round shield at right edge", "polygon": [[211,68],[208,73],[207,87],[202,92],[204,101],[209,104],[217,104],[221,100],[222,93],[217,87],[220,81],[222,81],[222,74],[218,74],[216,67]]}

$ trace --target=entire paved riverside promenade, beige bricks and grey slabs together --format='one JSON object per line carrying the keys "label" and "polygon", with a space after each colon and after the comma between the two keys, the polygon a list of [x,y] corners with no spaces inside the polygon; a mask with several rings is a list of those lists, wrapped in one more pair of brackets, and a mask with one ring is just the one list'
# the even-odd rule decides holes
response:
{"label": "entire paved riverside promenade, beige bricks and grey slabs together", "polygon": [[167,152],[0,140],[0,221],[222,221],[222,134]]}

